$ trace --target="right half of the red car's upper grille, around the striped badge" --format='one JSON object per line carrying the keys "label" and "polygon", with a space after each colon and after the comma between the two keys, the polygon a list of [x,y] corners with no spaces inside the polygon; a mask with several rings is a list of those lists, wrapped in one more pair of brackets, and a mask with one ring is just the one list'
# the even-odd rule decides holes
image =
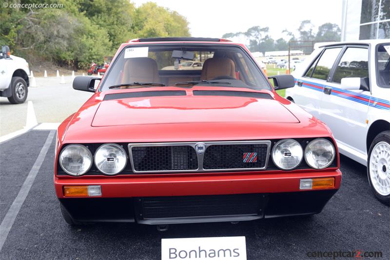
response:
{"label": "right half of the red car's upper grille, around the striped badge", "polygon": [[[204,154],[204,169],[263,168],[266,164],[266,144],[212,145]],[[244,154],[256,156],[252,162],[244,162]]]}

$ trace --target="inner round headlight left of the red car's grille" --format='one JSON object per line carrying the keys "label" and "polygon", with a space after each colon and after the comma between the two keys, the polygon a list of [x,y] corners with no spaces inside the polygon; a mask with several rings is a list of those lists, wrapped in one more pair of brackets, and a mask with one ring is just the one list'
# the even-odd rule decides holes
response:
{"label": "inner round headlight left of the red car's grille", "polygon": [[124,169],[126,163],[126,152],[117,144],[101,145],[95,152],[95,165],[104,174],[115,175]]}

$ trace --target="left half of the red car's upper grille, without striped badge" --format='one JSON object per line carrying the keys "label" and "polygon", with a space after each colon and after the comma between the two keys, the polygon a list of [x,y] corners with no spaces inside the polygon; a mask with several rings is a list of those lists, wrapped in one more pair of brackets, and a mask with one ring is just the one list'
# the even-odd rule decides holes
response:
{"label": "left half of the red car's upper grille, without striped badge", "polygon": [[133,147],[136,171],[196,170],[198,161],[191,146]]}

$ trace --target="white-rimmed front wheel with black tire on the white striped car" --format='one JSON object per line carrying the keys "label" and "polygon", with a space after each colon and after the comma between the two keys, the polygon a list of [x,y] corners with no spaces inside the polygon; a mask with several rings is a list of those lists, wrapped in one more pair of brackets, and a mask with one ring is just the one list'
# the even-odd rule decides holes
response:
{"label": "white-rimmed front wheel with black tire on the white striped car", "polygon": [[387,185],[390,182],[390,131],[379,133],[372,141],[367,176],[375,197],[390,205],[390,187]]}

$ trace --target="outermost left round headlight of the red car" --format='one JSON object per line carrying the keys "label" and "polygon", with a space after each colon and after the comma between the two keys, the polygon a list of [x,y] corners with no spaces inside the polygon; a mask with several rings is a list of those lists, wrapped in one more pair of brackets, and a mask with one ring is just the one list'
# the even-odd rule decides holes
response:
{"label": "outermost left round headlight of the red car", "polygon": [[59,154],[59,165],[70,175],[83,175],[92,166],[92,153],[83,145],[68,145]]}

